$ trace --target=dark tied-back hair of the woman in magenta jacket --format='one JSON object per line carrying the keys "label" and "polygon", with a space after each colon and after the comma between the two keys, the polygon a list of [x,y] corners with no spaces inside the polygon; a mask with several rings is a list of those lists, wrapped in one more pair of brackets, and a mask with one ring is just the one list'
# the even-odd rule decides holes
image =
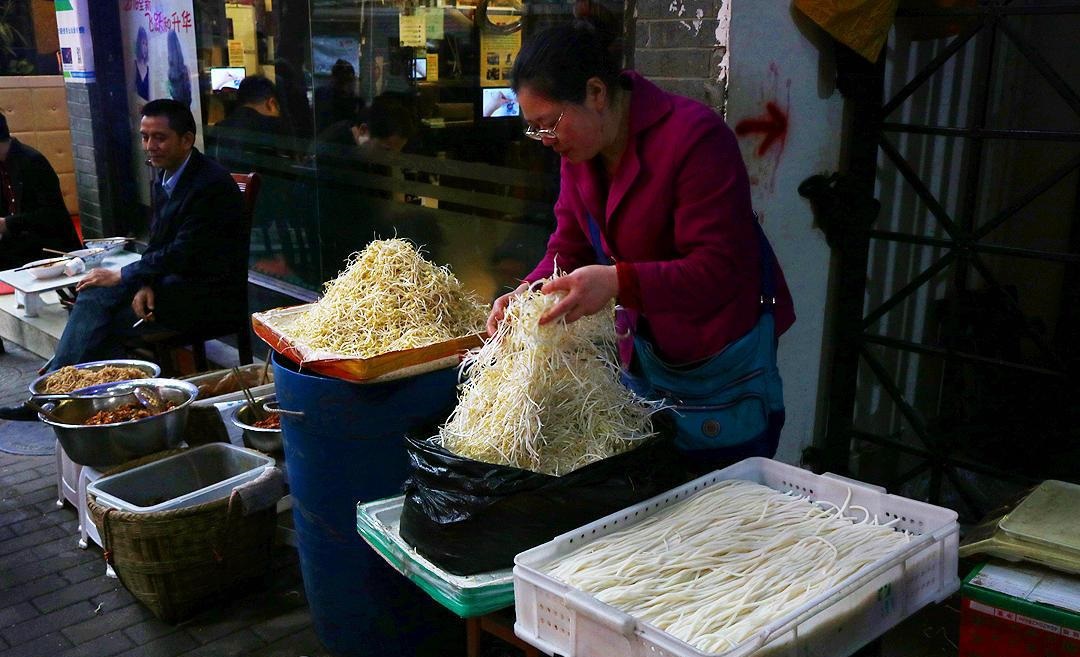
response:
{"label": "dark tied-back hair of the woman in magenta jacket", "polygon": [[585,21],[556,25],[529,39],[517,54],[510,85],[564,103],[584,103],[585,83],[599,78],[608,89],[621,88],[620,62],[611,39]]}

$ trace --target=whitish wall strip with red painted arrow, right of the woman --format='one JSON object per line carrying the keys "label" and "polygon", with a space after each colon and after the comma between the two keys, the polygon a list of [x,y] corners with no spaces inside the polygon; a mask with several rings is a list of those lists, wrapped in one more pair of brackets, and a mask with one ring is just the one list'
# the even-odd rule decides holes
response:
{"label": "whitish wall strip with red painted arrow, right of the woman", "polygon": [[822,344],[827,314],[829,249],[798,196],[808,176],[836,171],[843,104],[833,88],[831,46],[788,2],[745,0],[731,6],[727,121],[767,117],[773,103],[787,120],[783,138],[758,155],[764,136],[740,137],[754,206],[784,268],[797,321],[781,338],[787,424],[777,458],[798,462],[824,430]]}

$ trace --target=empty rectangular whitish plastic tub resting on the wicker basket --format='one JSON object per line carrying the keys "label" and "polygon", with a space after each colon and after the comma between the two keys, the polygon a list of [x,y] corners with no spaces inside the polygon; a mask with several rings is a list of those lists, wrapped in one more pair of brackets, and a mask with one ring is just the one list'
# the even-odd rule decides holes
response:
{"label": "empty rectangular whitish plastic tub resting on the wicker basket", "polygon": [[193,507],[222,497],[274,465],[255,450],[211,443],[124,472],[86,487],[97,502],[137,513]]}

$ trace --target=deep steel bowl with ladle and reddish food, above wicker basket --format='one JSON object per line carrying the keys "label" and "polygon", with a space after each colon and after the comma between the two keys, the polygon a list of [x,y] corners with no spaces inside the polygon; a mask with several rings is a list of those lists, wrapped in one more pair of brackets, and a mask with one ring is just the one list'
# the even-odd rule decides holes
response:
{"label": "deep steel bowl with ladle and reddish food, above wicker basket", "polygon": [[[117,391],[135,386],[152,388],[176,407],[126,423],[82,424],[99,411],[131,403],[131,395],[117,395]],[[38,417],[56,432],[68,458],[79,465],[102,468],[177,446],[183,441],[188,410],[199,389],[171,378],[140,378],[83,388],[81,393],[87,397],[67,399],[53,406],[53,416],[62,421],[53,421],[41,414]]]}

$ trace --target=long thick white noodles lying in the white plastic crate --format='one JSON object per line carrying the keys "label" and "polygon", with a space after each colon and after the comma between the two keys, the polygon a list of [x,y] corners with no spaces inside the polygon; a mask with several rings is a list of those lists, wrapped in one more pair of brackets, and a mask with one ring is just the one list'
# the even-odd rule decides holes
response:
{"label": "long thick white noodles lying in the white plastic crate", "polygon": [[718,653],[910,537],[746,481],[715,484],[546,566],[549,575],[693,647]]}

